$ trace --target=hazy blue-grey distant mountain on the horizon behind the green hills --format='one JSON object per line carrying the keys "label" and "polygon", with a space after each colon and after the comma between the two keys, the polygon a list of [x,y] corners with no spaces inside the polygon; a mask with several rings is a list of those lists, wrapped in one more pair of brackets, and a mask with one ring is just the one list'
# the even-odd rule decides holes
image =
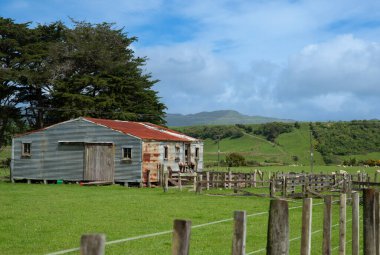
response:
{"label": "hazy blue-grey distant mountain on the horizon behind the green hills", "polygon": [[200,112],[195,114],[167,114],[167,125],[170,127],[196,125],[230,125],[230,124],[260,124],[267,122],[293,122],[293,120],[269,118],[262,116],[243,115],[237,111],[222,110]]}

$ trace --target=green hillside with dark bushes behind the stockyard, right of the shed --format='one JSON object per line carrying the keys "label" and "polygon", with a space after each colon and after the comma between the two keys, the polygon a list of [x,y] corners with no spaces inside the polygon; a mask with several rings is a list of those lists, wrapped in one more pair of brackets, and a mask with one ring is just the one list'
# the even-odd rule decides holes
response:
{"label": "green hillside with dark bushes behind the stockyard, right of the shed", "polygon": [[329,122],[312,123],[311,126],[309,123],[274,122],[193,126],[178,130],[204,139],[206,166],[218,162],[218,138],[221,162],[234,152],[244,156],[248,165],[310,165],[311,134],[314,165],[337,165],[345,161],[367,164],[361,162],[380,159],[379,122]]}

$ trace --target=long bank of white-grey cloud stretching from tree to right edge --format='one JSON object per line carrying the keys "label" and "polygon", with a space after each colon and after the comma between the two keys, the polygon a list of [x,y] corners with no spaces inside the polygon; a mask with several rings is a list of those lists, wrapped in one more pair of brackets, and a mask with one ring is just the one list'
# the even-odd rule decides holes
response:
{"label": "long bank of white-grey cloud stretching from tree to right edge", "polygon": [[[198,44],[137,49],[169,112],[235,109],[298,120],[379,116],[380,45],[353,37],[305,46],[285,66],[253,61],[246,70]],[[349,117],[351,116],[351,117]]]}

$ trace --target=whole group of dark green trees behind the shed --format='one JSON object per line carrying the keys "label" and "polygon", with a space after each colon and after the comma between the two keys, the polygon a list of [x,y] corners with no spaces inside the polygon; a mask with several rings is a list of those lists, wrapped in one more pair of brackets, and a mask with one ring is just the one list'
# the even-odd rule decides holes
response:
{"label": "whole group of dark green trees behind the shed", "polygon": [[79,116],[165,123],[158,81],[131,49],[137,38],[110,23],[72,23],[0,17],[0,148],[22,128]]}

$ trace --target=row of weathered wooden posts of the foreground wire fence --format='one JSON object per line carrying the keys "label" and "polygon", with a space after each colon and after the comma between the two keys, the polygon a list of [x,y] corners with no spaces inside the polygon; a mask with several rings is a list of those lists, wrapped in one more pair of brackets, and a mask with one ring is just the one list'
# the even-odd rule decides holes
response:
{"label": "row of weathered wooden posts of the foreground wire fence", "polygon": [[[340,194],[339,199],[339,254],[346,253],[347,236],[347,195]],[[352,254],[360,253],[359,243],[359,193],[352,193]],[[332,253],[331,230],[332,230],[332,196],[324,197],[324,220],[322,254]],[[379,255],[380,253],[380,193],[375,189],[363,190],[363,244],[364,255]],[[312,234],[312,198],[303,199],[301,246],[299,251],[292,254],[310,255]],[[234,212],[234,229],[231,245],[232,255],[246,254],[246,231],[247,215],[245,211]],[[267,231],[267,255],[288,255],[290,250],[289,208],[288,202],[282,199],[270,201]],[[174,220],[172,237],[172,254],[188,255],[190,250],[191,221]],[[105,236],[103,234],[83,235],[81,238],[81,254],[102,255],[104,254]]]}

